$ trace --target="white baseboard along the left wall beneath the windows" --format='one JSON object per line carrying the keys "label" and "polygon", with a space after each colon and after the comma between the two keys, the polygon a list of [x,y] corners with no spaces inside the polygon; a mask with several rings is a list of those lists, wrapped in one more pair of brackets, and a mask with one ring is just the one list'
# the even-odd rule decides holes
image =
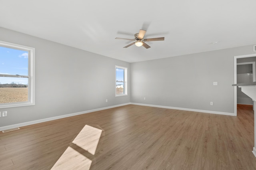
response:
{"label": "white baseboard along the left wall beneath the windows", "polygon": [[71,114],[68,114],[68,115],[61,115],[61,116],[50,117],[50,118],[46,118],[46,119],[40,119],[40,120],[36,120],[36,121],[18,123],[18,124],[15,124],[15,125],[8,125],[8,126],[5,126],[5,127],[0,127],[0,131],[6,130],[6,129],[10,129],[10,128],[17,128],[17,127],[24,127],[24,126],[28,126],[28,125],[34,125],[36,123],[53,121],[53,120],[62,119],[62,118],[65,118],[65,117],[82,115],[82,114],[85,114],[85,113],[91,113],[91,112],[95,112],[95,111],[101,111],[101,110],[105,110],[105,109],[111,109],[111,108],[114,108],[114,107],[120,107],[120,106],[130,105],[130,104],[131,103],[124,103],[124,104],[120,104],[120,105],[114,105],[114,106],[109,106],[109,107],[102,107],[102,108],[99,108],[99,109],[92,109],[92,110],[89,110],[89,111],[82,111],[82,112],[77,112],[77,113],[71,113]]}

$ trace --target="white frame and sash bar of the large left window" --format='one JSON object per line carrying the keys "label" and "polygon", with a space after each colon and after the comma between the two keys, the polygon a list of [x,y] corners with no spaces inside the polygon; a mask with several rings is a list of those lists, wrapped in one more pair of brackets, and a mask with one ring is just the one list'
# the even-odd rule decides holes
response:
{"label": "white frame and sash bar of the large left window", "polygon": [[28,101],[0,103],[0,109],[35,105],[35,48],[16,44],[16,43],[4,42],[1,40],[0,40],[0,46],[28,51],[28,76],[1,75],[1,77],[24,77],[24,78],[27,77],[28,78]]}

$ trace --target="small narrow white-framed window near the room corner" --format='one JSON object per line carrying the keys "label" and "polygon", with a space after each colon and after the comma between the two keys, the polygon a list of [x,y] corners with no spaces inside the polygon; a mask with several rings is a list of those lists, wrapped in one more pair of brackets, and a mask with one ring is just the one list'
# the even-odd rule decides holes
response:
{"label": "small narrow white-framed window near the room corner", "polygon": [[116,96],[127,95],[127,68],[116,66]]}

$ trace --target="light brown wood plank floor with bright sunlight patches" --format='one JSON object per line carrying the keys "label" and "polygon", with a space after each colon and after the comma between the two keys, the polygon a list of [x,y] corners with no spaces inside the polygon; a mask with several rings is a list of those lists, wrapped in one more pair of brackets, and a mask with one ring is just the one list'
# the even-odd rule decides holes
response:
{"label": "light brown wood plank floor with bright sunlight patches", "polygon": [[253,147],[250,106],[233,117],[126,105],[0,132],[0,169],[255,170]]}

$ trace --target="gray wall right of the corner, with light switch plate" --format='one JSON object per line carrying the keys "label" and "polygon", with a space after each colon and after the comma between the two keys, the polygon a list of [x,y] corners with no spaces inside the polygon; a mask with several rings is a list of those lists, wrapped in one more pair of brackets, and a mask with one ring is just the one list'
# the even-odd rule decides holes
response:
{"label": "gray wall right of the corner, with light switch plate", "polygon": [[234,113],[234,56],[252,53],[248,45],[131,63],[131,102]]}

